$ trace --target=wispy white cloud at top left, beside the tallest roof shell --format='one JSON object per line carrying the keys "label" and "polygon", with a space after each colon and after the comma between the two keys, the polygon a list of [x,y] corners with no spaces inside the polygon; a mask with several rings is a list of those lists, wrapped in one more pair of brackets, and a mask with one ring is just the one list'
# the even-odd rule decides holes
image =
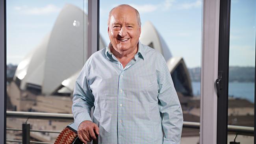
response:
{"label": "wispy white cloud at top left, beside the tallest roof shell", "polygon": [[26,15],[47,15],[50,13],[58,13],[61,10],[61,8],[53,4],[49,4],[45,7],[15,6],[13,9]]}

